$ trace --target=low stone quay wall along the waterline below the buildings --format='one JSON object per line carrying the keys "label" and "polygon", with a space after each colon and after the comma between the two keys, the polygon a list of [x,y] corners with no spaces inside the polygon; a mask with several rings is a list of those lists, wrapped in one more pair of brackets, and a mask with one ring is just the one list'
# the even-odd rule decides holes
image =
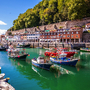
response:
{"label": "low stone quay wall along the waterline below the buildings", "polygon": [[[17,46],[23,42],[11,42],[13,46]],[[30,44],[30,48],[56,48],[65,47],[69,49],[80,49],[80,48],[90,48],[90,43],[60,43],[60,42],[24,42],[25,45]]]}

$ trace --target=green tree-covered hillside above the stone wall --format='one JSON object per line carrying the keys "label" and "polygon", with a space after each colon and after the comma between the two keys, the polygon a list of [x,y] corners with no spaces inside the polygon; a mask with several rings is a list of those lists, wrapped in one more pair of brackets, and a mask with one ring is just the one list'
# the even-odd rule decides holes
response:
{"label": "green tree-covered hillside above the stone wall", "polygon": [[90,17],[90,0],[42,0],[13,21],[8,30],[19,30],[66,20]]}

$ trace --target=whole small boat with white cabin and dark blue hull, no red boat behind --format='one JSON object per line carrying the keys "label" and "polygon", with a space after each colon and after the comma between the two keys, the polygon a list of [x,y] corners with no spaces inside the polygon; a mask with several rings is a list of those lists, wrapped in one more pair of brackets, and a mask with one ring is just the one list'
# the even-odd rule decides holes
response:
{"label": "whole small boat with white cabin and dark blue hull, no red boat behind", "polygon": [[42,69],[50,70],[50,67],[53,64],[50,63],[48,60],[45,60],[44,57],[39,56],[37,59],[32,59],[32,65]]}

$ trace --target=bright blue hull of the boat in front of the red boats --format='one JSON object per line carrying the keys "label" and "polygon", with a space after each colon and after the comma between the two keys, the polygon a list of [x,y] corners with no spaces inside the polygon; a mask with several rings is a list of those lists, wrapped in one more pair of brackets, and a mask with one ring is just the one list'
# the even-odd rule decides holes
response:
{"label": "bright blue hull of the boat in front of the red boats", "polygon": [[70,65],[75,66],[78,60],[67,60],[67,61],[60,61],[60,60],[54,60],[54,58],[50,58],[50,61],[56,64],[63,64],[63,65]]}

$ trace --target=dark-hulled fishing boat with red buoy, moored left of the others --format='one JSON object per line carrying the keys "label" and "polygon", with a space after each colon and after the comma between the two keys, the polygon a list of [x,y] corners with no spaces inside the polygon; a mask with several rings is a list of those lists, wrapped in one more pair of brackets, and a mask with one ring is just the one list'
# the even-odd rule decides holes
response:
{"label": "dark-hulled fishing boat with red buoy, moored left of the others", "polygon": [[22,59],[25,60],[29,54],[25,53],[25,51],[20,51],[19,49],[8,49],[8,56],[10,58],[15,58],[15,59]]}

